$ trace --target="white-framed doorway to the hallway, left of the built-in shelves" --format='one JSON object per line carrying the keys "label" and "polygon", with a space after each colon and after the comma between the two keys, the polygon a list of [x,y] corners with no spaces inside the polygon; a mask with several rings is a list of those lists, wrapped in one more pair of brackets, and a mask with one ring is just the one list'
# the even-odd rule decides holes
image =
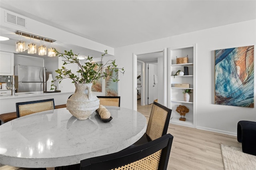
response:
{"label": "white-framed doorway to the hallway, left of the built-in shelves", "polygon": [[133,109],[137,110],[137,103],[142,106],[150,105],[154,100],[165,105],[167,101],[167,49],[134,53],[133,56]]}

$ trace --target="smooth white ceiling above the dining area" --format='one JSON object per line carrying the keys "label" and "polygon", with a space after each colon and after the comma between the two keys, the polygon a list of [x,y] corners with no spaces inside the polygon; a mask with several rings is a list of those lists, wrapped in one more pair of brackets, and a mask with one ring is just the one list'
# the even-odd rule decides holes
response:
{"label": "smooth white ceiling above the dining area", "polygon": [[256,19],[256,0],[0,0],[0,7],[114,48]]}

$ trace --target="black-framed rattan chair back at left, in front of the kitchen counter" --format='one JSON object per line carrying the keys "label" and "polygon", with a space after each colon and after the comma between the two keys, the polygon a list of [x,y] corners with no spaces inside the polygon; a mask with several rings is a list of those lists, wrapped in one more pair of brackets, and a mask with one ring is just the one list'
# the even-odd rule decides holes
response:
{"label": "black-framed rattan chair back at left, in front of the kitchen counter", "polygon": [[17,117],[55,109],[54,99],[16,103]]}

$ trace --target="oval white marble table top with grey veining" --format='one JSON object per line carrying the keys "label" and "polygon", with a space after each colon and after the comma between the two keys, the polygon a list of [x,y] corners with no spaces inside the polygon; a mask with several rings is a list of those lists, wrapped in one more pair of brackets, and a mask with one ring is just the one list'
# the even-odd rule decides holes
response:
{"label": "oval white marble table top with grey veining", "polygon": [[78,121],[66,108],[20,117],[0,126],[1,164],[46,168],[79,164],[80,160],[118,152],[146,131],[137,111],[106,107],[113,119],[104,123],[96,113]]}

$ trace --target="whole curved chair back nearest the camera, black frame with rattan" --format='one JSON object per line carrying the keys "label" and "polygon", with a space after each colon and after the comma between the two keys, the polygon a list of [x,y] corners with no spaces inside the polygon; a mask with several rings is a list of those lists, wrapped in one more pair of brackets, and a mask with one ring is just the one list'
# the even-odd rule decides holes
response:
{"label": "whole curved chair back nearest the camera, black frame with rattan", "polygon": [[80,170],[166,170],[172,140],[165,134],[134,148],[82,160]]}

